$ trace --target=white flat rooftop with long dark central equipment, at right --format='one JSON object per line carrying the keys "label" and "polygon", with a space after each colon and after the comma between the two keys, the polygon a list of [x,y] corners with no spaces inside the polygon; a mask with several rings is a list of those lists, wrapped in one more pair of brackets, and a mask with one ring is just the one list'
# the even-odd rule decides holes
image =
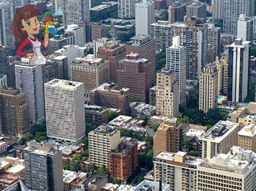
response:
{"label": "white flat rooftop with long dark central equipment, at right", "polygon": [[201,136],[200,140],[211,140],[213,142],[219,143],[238,126],[239,124],[232,123],[230,121],[219,121],[211,129],[209,129],[206,134]]}

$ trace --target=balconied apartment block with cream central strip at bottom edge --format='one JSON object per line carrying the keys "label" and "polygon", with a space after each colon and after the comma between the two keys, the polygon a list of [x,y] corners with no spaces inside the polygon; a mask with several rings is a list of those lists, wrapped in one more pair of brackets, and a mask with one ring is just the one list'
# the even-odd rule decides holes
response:
{"label": "balconied apartment block with cream central strip at bottom edge", "polygon": [[158,152],[153,157],[154,181],[170,185],[170,191],[196,190],[197,167],[203,159],[186,152]]}

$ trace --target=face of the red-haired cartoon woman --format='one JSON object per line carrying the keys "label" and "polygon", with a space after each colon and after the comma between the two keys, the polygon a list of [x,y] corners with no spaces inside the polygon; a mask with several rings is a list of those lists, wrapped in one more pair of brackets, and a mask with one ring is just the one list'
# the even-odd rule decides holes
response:
{"label": "face of the red-haired cartoon woman", "polygon": [[23,29],[27,34],[39,34],[40,32],[40,22],[37,20],[37,16],[31,17],[30,19],[22,19]]}

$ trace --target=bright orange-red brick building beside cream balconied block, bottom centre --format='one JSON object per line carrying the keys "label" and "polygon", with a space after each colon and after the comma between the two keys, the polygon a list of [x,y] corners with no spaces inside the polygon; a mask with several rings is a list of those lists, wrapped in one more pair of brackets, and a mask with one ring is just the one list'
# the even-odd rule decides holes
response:
{"label": "bright orange-red brick building beside cream balconied block, bottom centre", "polygon": [[121,141],[110,152],[110,177],[127,180],[138,165],[138,143],[135,140]]}

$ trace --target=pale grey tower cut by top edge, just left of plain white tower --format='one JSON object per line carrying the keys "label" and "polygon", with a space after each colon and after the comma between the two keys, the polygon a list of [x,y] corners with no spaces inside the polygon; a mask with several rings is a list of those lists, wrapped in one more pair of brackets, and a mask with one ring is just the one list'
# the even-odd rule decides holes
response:
{"label": "pale grey tower cut by top edge, just left of plain white tower", "polygon": [[135,17],[135,0],[118,0],[118,17]]}

